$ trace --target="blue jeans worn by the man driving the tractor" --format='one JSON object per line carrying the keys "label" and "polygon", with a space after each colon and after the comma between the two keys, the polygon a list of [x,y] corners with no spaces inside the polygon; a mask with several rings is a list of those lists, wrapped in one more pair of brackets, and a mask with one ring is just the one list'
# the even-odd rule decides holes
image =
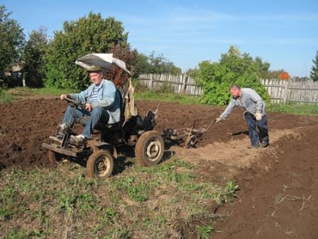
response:
{"label": "blue jeans worn by the man driving the tractor", "polygon": [[[74,117],[72,118],[72,113],[74,111]],[[99,122],[107,124],[109,120],[109,113],[102,107],[95,107],[91,112],[84,110],[79,107],[69,106],[65,112],[62,119],[62,123],[72,124],[75,118],[88,116],[89,120],[83,129],[83,136],[90,139],[92,136],[93,129],[97,126]]]}

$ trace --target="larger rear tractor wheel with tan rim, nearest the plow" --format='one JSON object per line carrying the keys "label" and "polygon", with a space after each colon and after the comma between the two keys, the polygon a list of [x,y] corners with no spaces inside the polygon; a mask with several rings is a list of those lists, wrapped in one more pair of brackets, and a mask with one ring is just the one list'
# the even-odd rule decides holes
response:
{"label": "larger rear tractor wheel with tan rim, nearest the plow", "polygon": [[157,131],[148,131],[141,134],[135,147],[135,156],[139,164],[153,166],[163,159],[165,143]]}

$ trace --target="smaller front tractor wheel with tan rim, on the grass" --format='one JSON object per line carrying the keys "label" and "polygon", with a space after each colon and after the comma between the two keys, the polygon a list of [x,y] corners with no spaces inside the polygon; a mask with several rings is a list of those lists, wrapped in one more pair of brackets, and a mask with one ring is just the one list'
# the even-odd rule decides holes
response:
{"label": "smaller front tractor wheel with tan rim, on the grass", "polygon": [[99,149],[89,156],[86,169],[89,178],[109,178],[114,169],[113,156],[107,150]]}

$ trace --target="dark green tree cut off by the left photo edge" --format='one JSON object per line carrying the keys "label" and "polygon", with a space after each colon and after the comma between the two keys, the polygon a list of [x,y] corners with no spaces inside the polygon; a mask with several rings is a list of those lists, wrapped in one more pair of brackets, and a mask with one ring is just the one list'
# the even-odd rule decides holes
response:
{"label": "dark green tree cut off by the left photo edge", "polygon": [[0,77],[19,63],[24,43],[23,29],[10,15],[6,6],[0,5]]}

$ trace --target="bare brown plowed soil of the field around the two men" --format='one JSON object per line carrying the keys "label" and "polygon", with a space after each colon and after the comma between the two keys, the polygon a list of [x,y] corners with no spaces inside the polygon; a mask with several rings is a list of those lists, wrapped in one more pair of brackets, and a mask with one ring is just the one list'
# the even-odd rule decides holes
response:
{"label": "bare brown plowed soil of the field around the two men", "polygon": [[[145,115],[158,103],[137,101]],[[57,98],[28,98],[1,104],[0,173],[15,166],[47,166],[41,147],[53,135],[67,104]],[[155,129],[207,127],[222,107],[160,103]],[[249,145],[243,111],[214,124],[194,149],[172,145],[177,158],[199,166],[211,181],[239,185],[234,203],[214,208],[227,214],[212,238],[318,238],[318,117],[268,113],[270,147]]]}

